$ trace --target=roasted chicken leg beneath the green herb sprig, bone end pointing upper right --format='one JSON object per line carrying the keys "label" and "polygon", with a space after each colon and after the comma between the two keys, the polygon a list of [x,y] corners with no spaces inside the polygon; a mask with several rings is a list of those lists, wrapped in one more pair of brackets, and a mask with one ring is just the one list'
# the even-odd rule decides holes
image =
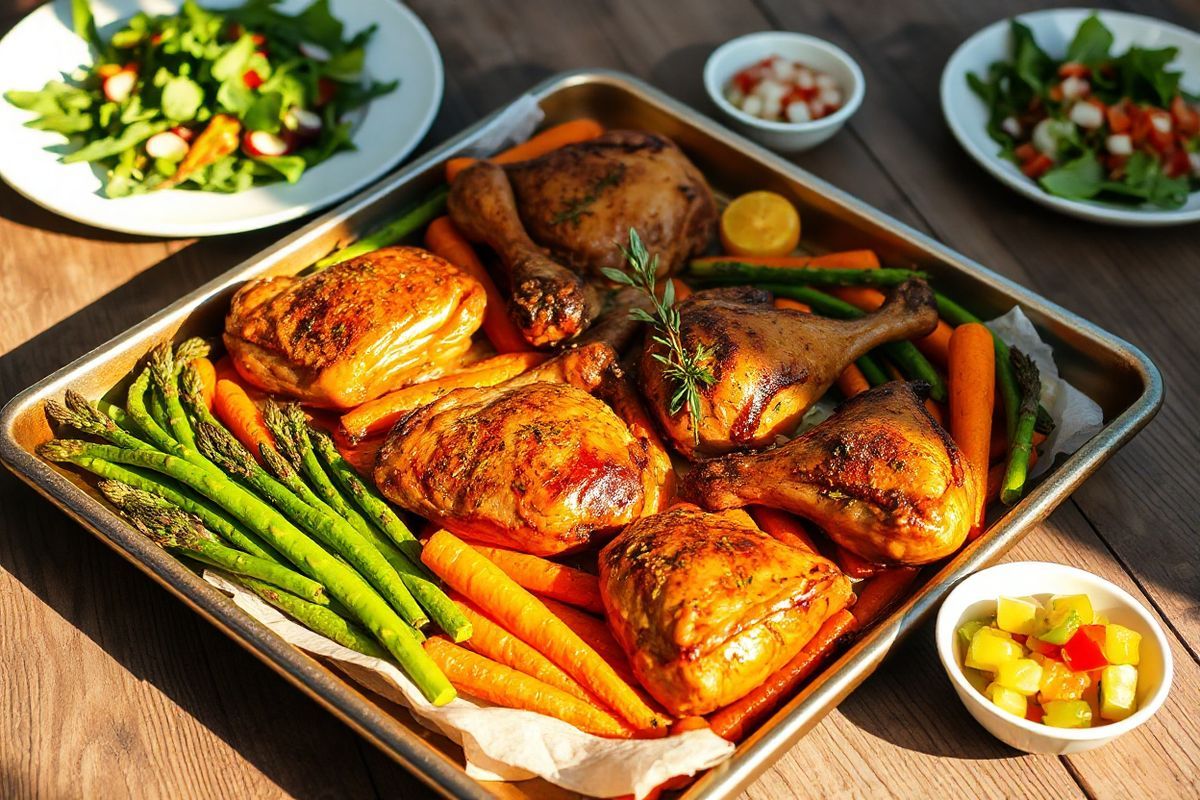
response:
{"label": "roasted chicken leg beneath the green herb sprig, bone end pointing upper right", "polygon": [[700,440],[686,407],[671,414],[676,391],[649,331],[642,351],[642,391],[668,439],[684,456],[714,456],[773,444],[791,434],[838,375],[869,350],[924,336],[937,325],[934,293],[920,281],[898,287],[875,313],[829,319],[775,308],[770,294],[749,287],[697,291],[679,306],[689,351],[712,349],[716,381],[701,390]]}

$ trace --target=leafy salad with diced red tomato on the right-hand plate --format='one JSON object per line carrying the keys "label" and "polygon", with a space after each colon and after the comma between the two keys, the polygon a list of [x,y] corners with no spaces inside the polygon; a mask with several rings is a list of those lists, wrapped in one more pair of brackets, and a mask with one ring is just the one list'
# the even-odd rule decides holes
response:
{"label": "leafy salad with diced red tomato on the right-hand plate", "polygon": [[1092,14],[1066,56],[1012,23],[1013,55],[967,76],[1004,157],[1056,197],[1177,209],[1200,188],[1200,107],[1180,89],[1174,47],[1112,52]]}

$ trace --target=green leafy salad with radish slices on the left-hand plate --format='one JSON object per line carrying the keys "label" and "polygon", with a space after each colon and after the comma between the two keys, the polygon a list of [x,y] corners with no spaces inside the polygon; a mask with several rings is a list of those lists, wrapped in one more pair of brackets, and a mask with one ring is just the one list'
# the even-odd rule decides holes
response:
{"label": "green leafy salad with radish slices on the left-hand plate", "polygon": [[64,163],[104,170],[104,193],[162,188],[240,192],[295,182],[354,148],[348,113],[397,82],[364,80],[374,26],[346,37],[329,0],[295,16],[278,0],[214,11],[139,13],[109,38],[88,0],[72,0],[90,67],[5,98],[37,114],[29,127],[70,139]]}

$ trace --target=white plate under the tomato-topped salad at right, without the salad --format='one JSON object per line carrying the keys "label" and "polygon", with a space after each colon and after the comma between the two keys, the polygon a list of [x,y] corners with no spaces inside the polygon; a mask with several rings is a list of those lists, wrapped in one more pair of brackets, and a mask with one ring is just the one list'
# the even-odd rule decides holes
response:
{"label": "white plate under the tomato-topped salad at right, without the salad", "polygon": [[[1018,19],[1030,26],[1038,44],[1051,56],[1061,58],[1075,37],[1079,24],[1091,10],[1055,8],[1020,14]],[[1200,92],[1200,35],[1159,19],[1099,11],[1100,22],[1112,31],[1114,53],[1123,53],[1130,44],[1141,47],[1177,47],[1178,56],[1171,68],[1181,70],[1181,86]],[[1121,225],[1175,225],[1200,219],[1200,192],[1193,192],[1187,204],[1170,211],[1151,205],[1128,206],[1094,200],[1067,200],[1045,192],[1026,178],[1016,164],[1000,156],[1000,145],[988,136],[988,108],[971,88],[967,73],[985,76],[988,67],[1012,58],[1009,19],[984,28],[962,42],[942,71],[942,113],[955,138],[988,172],[1021,194],[1042,205],[1093,222]]]}

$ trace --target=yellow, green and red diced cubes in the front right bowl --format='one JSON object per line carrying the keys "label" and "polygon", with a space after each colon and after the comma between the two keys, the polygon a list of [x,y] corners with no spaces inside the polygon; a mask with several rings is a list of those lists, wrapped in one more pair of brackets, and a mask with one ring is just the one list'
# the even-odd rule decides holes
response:
{"label": "yellow, green and red diced cubes in the front right bowl", "polygon": [[1141,634],[1094,613],[1086,595],[1000,597],[996,616],[958,634],[967,679],[1009,714],[1088,728],[1138,710]]}

